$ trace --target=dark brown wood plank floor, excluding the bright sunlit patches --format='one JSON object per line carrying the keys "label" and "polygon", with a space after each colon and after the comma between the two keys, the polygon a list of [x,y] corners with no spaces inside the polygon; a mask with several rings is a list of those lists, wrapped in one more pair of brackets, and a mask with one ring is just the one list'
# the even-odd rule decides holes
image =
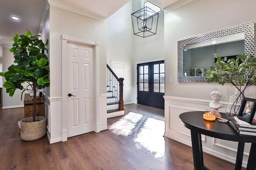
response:
{"label": "dark brown wood plank floor, excluding the bright sunlit patches", "polygon": [[[164,120],[164,110],[141,105],[126,105],[146,117]],[[192,170],[192,149],[165,137],[166,153],[154,158],[146,149],[137,149],[132,135],[122,137],[106,130],[68,138],[49,145],[47,137],[25,142],[18,134],[17,121],[23,108],[0,109],[0,170]],[[120,117],[108,119],[111,125]],[[138,126],[140,126],[139,124]],[[138,129],[134,129],[136,131]],[[233,170],[234,165],[208,154],[204,163],[211,170]]]}

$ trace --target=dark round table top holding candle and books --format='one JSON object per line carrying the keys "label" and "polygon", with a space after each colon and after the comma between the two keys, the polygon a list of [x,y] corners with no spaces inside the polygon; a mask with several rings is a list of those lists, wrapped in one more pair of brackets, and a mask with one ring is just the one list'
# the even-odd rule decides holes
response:
{"label": "dark round table top holding candle and books", "polygon": [[[256,136],[238,135],[228,123],[207,121],[203,118],[204,111],[189,111],[180,114],[182,124],[193,132],[218,139],[245,143],[256,143]],[[228,119],[225,113],[220,113],[222,118]]]}

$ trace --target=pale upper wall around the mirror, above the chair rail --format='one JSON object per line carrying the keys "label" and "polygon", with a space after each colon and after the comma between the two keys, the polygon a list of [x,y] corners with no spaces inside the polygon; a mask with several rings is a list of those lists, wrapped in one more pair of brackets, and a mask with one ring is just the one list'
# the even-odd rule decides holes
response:
{"label": "pale upper wall around the mirror, above the chair rail", "polygon": [[[221,101],[228,100],[228,96],[234,91],[230,86],[221,86],[214,83],[177,82],[177,41],[255,21],[254,14],[256,12],[252,8],[253,5],[255,5],[253,0],[246,1],[246,3],[231,0],[224,2],[221,0],[194,0],[165,14],[164,53],[165,63],[168,65],[166,67],[166,78],[174,77],[174,83],[166,83],[165,95],[210,100],[208,94],[212,90],[219,90],[223,94]],[[244,9],[246,9],[246,12],[234,15],[235,11]]]}

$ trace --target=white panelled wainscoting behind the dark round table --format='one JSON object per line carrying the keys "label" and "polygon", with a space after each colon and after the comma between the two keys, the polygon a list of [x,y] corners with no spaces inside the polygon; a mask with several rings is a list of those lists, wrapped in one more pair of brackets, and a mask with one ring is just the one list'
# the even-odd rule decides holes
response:
{"label": "white panelled wainscoting behind the dark round table", "polygon": [[[165,136],[191,147],[190,129],[181,124],[179,115],[187,111],[210,111],[209,102],[211,101],[164,96]],[[224,103],[224,105],[226,106],[226,103]],[[220,108],[219,111],[225,112],[225,107]],[[237,146],[238,142],[202,135],[202,147],[204,152],[232,163],[236,162]],[[246,143],[242,163],[244,167],[247,165],[249,152],[250,144]]]}

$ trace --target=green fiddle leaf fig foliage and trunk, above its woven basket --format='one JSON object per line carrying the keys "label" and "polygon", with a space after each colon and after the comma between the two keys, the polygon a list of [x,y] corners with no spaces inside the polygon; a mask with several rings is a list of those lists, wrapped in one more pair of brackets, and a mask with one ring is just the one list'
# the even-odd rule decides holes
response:
{"label": "green fiddle leaf fig foliage and trunk, above its woven basket", "polygon": [[[44,44],[40,35],[32,35],[30,31],[25,35],[16,33],[13,37],[13,45],[10,52],[14,54],[14,64],[8,67],[8,71],[1,72],[0,76],[6,79],[3,86],[9,96],[13,96],[16,89],[28,90],[30,86],[34,93],[33,100],[33,121],[36,120],[36,89],[42,89],[50,85],[49,79],[49,61],[44,51],[48,53],[46,46],[48,40]],[[23,87],[23,83],[27,82],[28,86]]]}

